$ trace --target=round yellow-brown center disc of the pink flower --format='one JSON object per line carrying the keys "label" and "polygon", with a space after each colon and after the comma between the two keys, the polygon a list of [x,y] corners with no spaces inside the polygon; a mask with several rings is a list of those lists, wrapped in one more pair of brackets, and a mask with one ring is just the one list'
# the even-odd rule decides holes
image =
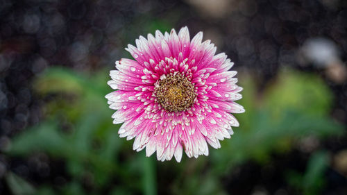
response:
{"label": "round yellow-brown center disc of the pink flower", "polygon": [[193,105],[195,87],[185,76],[175,72],[162,76],[155,85],[155,97],[162,108],[169,112],[181,112]]}

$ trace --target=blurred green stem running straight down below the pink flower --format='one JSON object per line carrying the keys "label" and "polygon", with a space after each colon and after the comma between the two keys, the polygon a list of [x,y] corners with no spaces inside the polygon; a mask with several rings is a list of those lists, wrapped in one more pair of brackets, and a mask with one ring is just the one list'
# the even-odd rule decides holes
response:
{"label": "blurred green stem running straight down below the pink flower", "polygon": [[142,177],[144,194],[155,195],[157,194],[155,161],[153,158],[147,158],[145,155],[142,155],[142,165],[144,171]]}

